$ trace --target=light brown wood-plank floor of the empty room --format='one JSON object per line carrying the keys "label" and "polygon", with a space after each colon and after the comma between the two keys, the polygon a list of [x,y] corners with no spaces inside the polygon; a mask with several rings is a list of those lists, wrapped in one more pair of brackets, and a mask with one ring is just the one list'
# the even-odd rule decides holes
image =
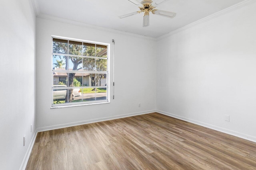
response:
{"label": "light brown wood-plank floor of the empty room", "polygon": [[255,170],[256,143],[159,113],[38,133],[26,170]]}

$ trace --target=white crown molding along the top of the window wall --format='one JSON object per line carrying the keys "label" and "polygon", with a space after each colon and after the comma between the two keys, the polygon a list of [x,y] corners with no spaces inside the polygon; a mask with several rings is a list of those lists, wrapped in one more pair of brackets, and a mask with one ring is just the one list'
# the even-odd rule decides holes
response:
{"label": "white crown molding along the top of the window wall", "polygon": [[132,36],[132,37],[137,37],[137,38],[147,39],[147,40],[151,40],[151,41],[156,41],[156,38],[154,38],[154,37],[147,37],[147,36],[144,36],[144,35],[129,33],[129,32],[120,31],[120,30],[117,30],[117,29],[100,27],[100,26],[97,26],[97,25],[90,25],[90,24],[87,24],[87,23],[74,21],[74,20],[68,20],[68,19],[65,19],[65,18],[50,16],[50,15],[46,15],[46,14],[39,14],[37,16],[37,18],[42,18],[42,19],[52,20],[52,21],[58,21],[58,22],[62,22],[62,23],[72,24],[72,25],[78,25],[78,26],[81,26],[81,27],[86,27],[86,28],[90,28],[90,29],[97,29],[99,31],[106,31],[106,32],[109,32],[109,33],[128,35],[128,36]]}

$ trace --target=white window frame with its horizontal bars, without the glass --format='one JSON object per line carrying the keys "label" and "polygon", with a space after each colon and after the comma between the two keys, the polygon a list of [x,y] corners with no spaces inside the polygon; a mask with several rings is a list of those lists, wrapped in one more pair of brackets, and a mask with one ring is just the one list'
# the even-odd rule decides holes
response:
{"label": "white window frame with its horizontal bars, without the glass", "polygon": [[[83,43],[90,43],[90,44],[96,44],[96,45],[106,45],[107,46],[107,58],[106,57],[95,57],[95,56],[83,56],[83,55],[71,55],[71,54],[63,54],[63,53],[53,53],[53,39],[63,39],[68,40],[68,46],[69,41],[78,41]],[[88,40],[82,40],[82,39],[74,39],[74,38],[68,38],[68,37],[60,37],[52,35],[52,55],[51,55],[51,69],[52,69],[52,100],[51,100],[51,108],[61,108],[61,107],[74,107],[74,106],[86,106],[86,105],[95,105],[95,104],[106,104],[110,103],[110,44],[109,43],[101,43],[96,41],[88,41]],[[96,54],[96,53],[95,53]],[[54,55],[62,55],[62,56],[68,56],[68,57],[82,57],[82,58],[94,58],[94,59],[106,59],[107,60],[107,70],[106,71],[84,71],[84,70],[54,70],[53,69],[53,56]],[[65,73],[93,73],[93,74],[106,74],[106,86],[83,86],[83,84],[80,87],[54,87],[53,80],[54,80],[54,72],[65,72]],[[68,85],[68,77],[67,77],[67,85]],[[71,102],[71,103],[64,103],[64,104],[53,104],[53,91],[54,89],[75,89],[75,88],[106,88],[106,100],[96,100],[96,92],[95,92],[95,100],[94,101],[87,101],[87,102]]]}

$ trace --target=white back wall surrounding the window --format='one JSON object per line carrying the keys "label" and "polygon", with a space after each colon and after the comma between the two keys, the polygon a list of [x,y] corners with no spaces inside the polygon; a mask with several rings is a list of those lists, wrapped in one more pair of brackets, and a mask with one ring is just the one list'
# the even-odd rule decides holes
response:
{"label": "white back wall surrounding the window", "polygon": [[[51,35],[110,43],[110,84],[113,82],[112,39],[115,40],[115,99],[110,98],[110,104],[50,109]],[[36,37],[36,113],[39,131],[155,110],[156,41],[42,18],[37,18]],[[113,94],[112,87],[110,94]],[[141,107],[138,107],[139,102]]]}

